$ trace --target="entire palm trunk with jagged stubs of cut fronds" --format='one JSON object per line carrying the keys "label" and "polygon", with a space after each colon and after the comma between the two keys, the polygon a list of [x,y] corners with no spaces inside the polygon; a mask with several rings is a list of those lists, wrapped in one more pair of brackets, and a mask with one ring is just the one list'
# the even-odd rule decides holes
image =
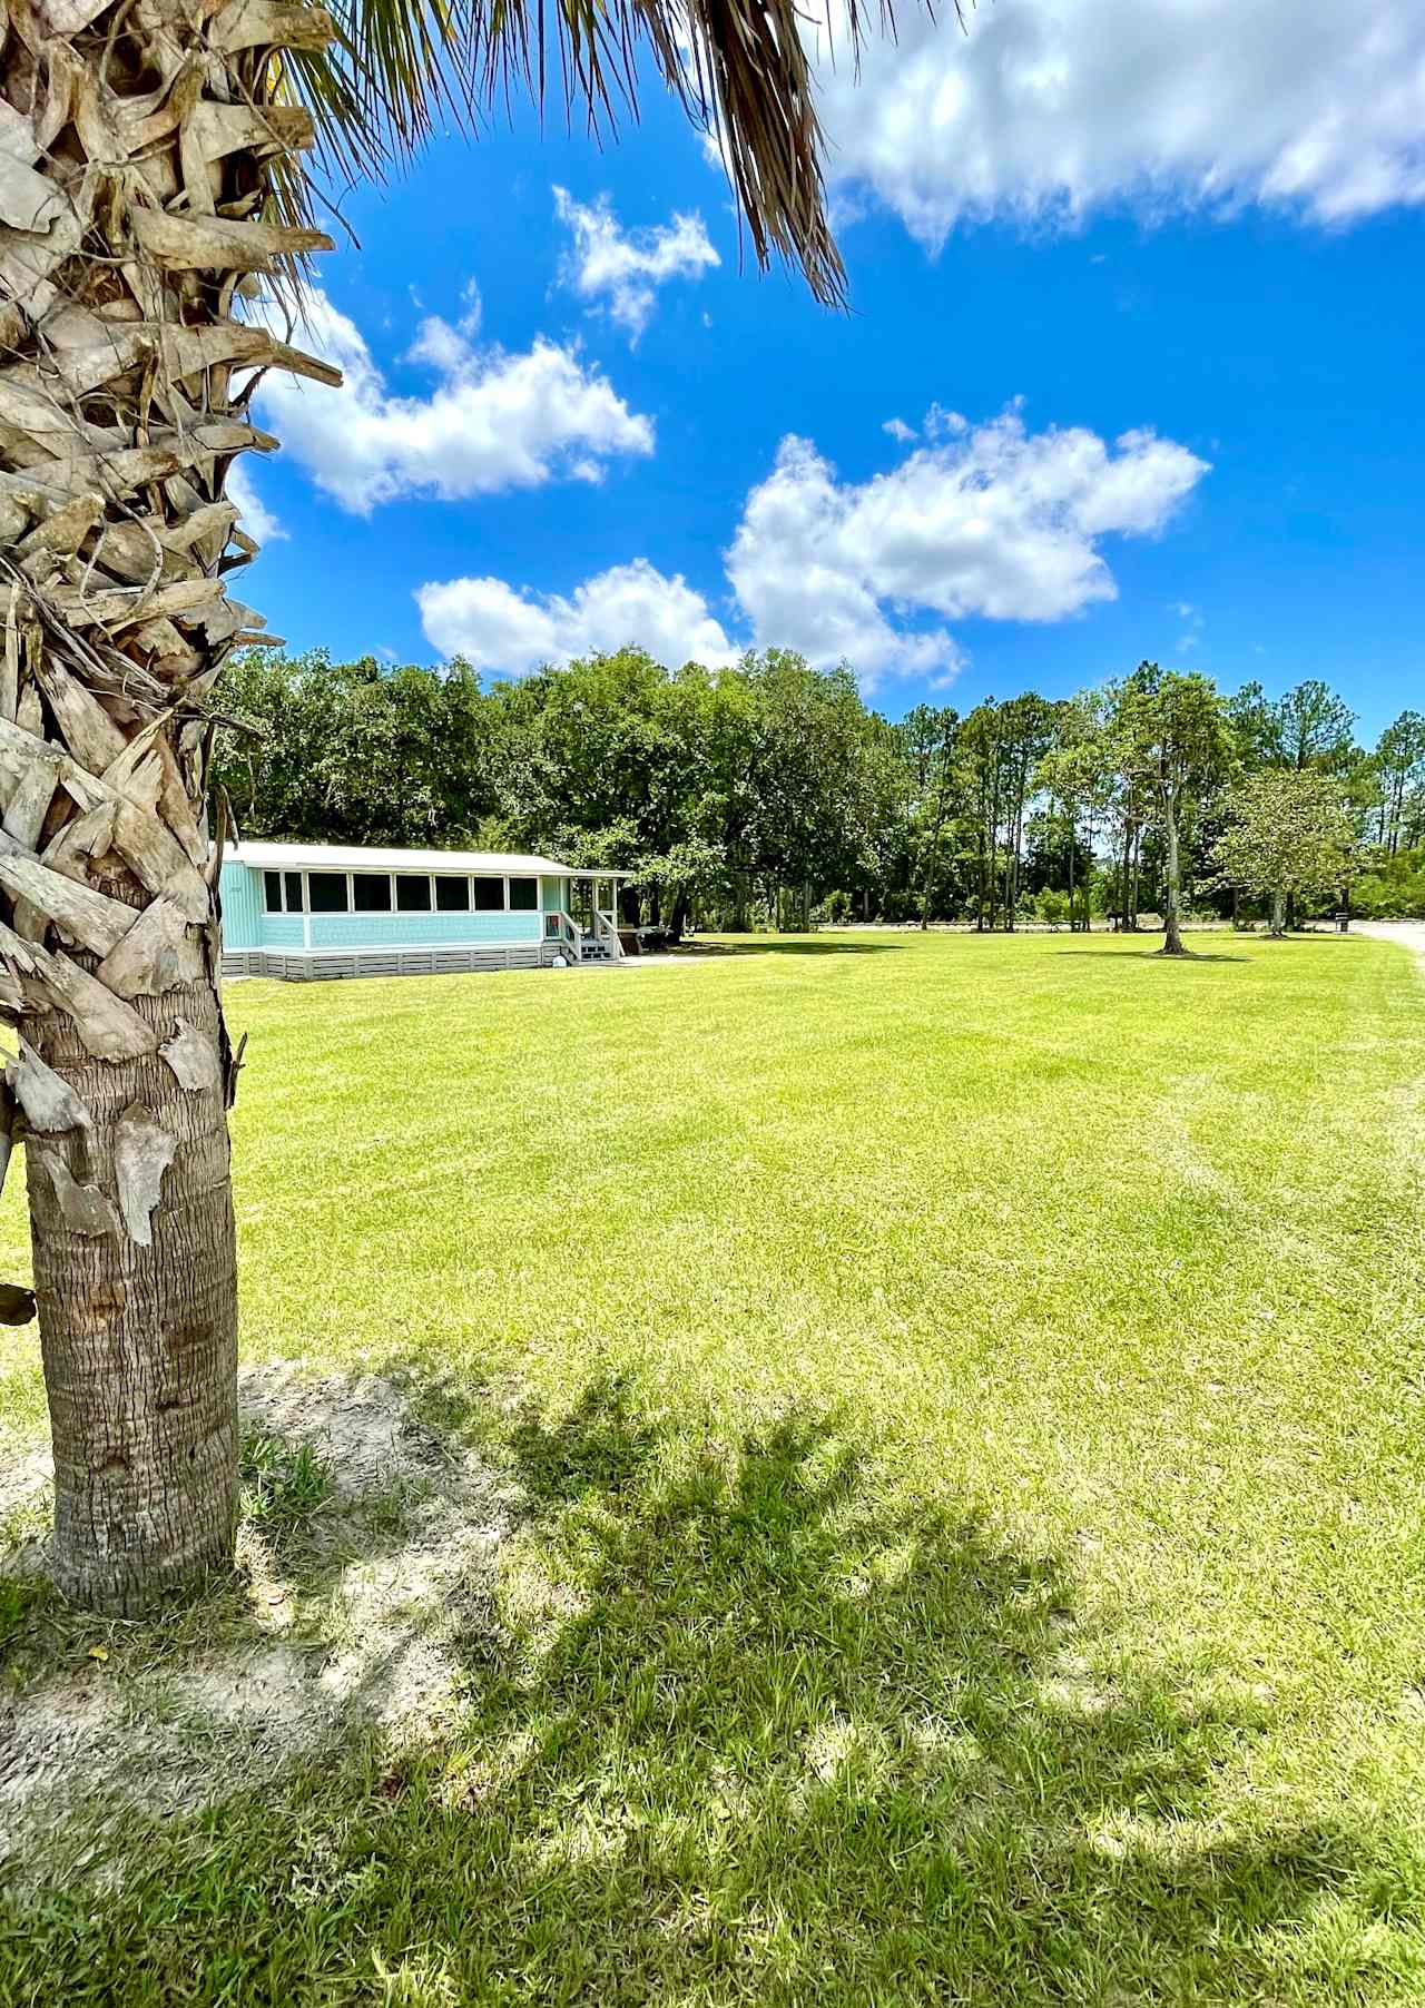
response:
{"label": "entire palm trunk with jagged stubs of cut fronds", "polygon": [[273,102],[273,50],[329,34],[273,0],[48,0],[10,8],[0,46],[0,1010],[20,1034],[0,1100],[28,1157],[54,1574],[118,1612],[233,1544],[237,1058],[205,795],[215,679],[265,637],[227,596],[257,546],[223,486],[277,444],[249,422],[253,371],[339,382],[233,295],[329,243],[267,219],[275,163],[311,143]]}

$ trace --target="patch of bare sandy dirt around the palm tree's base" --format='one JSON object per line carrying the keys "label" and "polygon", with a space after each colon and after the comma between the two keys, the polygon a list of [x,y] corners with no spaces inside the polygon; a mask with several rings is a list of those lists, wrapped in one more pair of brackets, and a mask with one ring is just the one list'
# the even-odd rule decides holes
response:
{"label": "patch of bare sandy dirt around the palm tree's base", "polygon": [[[0,1853],[80,1799],[104,1823],[185,1811],[363,1725],[436,1737],[488,1653],[514,1488],[425,1430],[391,1379],[255,1367],[241,1402],[247,1430],[327,1460],[331,1496],[291,1534],[245,1522],[239,1584],[171,1620],[54,1612],[38,1667],[0,1695]],[[46,1458],[0,1470],[10,1524],[46,1494]],[[42,1568],[42,1544],[18,1560]]]}

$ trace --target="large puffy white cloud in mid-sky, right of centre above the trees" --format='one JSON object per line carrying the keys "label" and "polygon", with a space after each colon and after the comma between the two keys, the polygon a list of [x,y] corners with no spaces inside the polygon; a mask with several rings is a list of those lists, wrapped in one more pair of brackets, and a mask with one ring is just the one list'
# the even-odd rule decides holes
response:
{"label": "large puffy white cloud in mid-sky, right of centre above the trees", "polygon": [[1062,620],[1114,598],[1098,540],[1160,530],[1206,474],[1152,432],[1112,448],[1082,428],[1030,434],[1016,408],[983,426],[931,412],[923,430],[939,444],[859,486],[783,440],[727,564],[759,643],[845,655],[871,679],[943,675],[951,633],[911,622]]}

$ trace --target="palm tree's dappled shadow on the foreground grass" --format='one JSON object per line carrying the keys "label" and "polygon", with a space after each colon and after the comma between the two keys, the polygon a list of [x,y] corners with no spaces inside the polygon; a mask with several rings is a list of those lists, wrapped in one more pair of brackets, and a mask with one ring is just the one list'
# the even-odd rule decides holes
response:
{"label": "palm tree's dappled shadow on the foreground grass", "polygon": [[1114,1673],[1062,1556],[887,1498],[845,1414],[729,1438],[604,1379],[502,1442],[524,1522],[454,1729],[189,1821],[82,1930],[52,1904],[48,1998],[84,1960],[116,2002],[261,2004],[1347,2002],[1405,1972],[1379,1809],[1222,1819],[1260,1703]]}

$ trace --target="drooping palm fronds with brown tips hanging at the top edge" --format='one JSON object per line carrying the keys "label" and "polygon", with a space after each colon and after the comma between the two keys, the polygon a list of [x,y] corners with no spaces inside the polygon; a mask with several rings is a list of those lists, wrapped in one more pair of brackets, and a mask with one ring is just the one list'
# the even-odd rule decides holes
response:
{"label": "drooping palm fronds with brown tips hanging at the top edge", "polygon": [[[717,141],[759,265],[785,257],[817,299],[845,305],[801,36],[817,16],[797,0],[333,0],[331,12],[327,50],[283,58],[283,92],[313,112],[327,173],[381,173],[436,124],[476,129],[516,94],[542,104],[550,72],[566,116],[582,112],[594,133],[608,133],[638,114],[646,46],[692,122]],[[871,16],[863,0],[843,0],[841,14],[851,58],[871,28],[893,32],[889,0],[875,0]],[[821,20],[829,30],[829,12]],[[303,197],[289,183],[275,201],[295,215]]]}

